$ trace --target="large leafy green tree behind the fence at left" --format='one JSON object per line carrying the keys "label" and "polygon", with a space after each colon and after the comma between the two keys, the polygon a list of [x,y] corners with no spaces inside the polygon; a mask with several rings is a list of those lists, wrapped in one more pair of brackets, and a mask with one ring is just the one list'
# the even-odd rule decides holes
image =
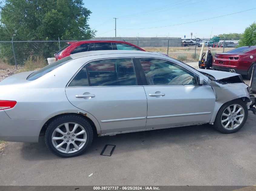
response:
{"label": "large leafy green tree behind the fence at left", "polygon": [[95,31],[87,23],[91,11],[83,5],[82,0],[6,0],[0,37],[89,39]]}

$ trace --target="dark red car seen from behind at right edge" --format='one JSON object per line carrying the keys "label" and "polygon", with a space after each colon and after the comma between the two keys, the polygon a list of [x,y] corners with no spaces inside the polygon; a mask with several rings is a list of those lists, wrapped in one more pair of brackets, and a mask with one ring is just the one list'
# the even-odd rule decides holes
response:
{"label": "dark red car seen from behind at right edge", "polygon": [[229,69],[234,69],[236,73],[251,79],[253,61],[256,61],[256,46],[242,46],[226,53],[215,54],[212,66],[214,70],[228,72]]}

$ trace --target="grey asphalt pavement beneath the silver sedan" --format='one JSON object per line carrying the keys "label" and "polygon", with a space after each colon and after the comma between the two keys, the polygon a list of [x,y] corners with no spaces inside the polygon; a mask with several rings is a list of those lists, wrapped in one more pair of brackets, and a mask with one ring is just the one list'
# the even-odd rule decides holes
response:
{"label": "grey asphalt pavement beneath the silver sedan", "polygon": [[[53,155],[43,137],[39,143],[7,142],[0,185],[255,185],[255,118],[249,111],[233,134],[200,125],[95,136],[75,158]],[[116,145],[110,157],[100,155],[106,144]]]}

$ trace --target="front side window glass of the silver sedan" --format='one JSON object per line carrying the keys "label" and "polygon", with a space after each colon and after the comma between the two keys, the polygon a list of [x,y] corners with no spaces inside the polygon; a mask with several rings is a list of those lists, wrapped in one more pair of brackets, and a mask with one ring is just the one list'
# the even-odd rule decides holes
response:
{"label": "front side window glass of the silver sedan", "polygon": [[148,85],[195,85],[192,72],[166,60],[139,59]]}

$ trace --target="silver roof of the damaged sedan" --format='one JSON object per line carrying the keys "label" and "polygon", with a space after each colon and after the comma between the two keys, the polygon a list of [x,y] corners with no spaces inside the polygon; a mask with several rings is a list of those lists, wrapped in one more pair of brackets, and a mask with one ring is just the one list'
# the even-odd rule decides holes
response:
{"label": "silver roof of the damaged sedan", "polygon": [[77,59],[85,56],[106,55],[106,54],[138,54],[138,56],[142,56],[142,55],[146,56],[146,54],[151,54],[151,55],[163,56],[160,53],[138,51],[138,50],[96,50],[96,51],[88,51],[88,52],[71,54],[70,56],[72,59]]}

